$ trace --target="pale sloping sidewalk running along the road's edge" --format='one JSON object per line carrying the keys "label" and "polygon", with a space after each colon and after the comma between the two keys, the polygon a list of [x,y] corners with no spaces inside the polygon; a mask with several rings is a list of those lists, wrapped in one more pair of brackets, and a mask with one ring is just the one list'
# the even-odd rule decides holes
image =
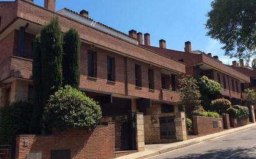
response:
{"label": "pale sloping sidewalk running along the road's edge", "polygon": [[256,123],[248,124],[246,126],[237,127],[234,129],[229,129],[222,132],[217,132],[215,134],[204,135],[202,137],[197,137],[190,140],[185,140],[181,142],[175,142],[171,144],[150,144],[145,145],[145,150],[142,152],[132,153],[130,155],[126,155],[124,157],[118,157],[116,159],[142,159],[149,158],[155,155],[159,155],[161,153],[170,152],[171,150],[176,150],[178,148],[187,147],[189,145],[198,144],[200,142],[204,142],[207,140],[215,139],[217,137],[223,137],[225,135],[235,134],[236,132],[244,131],[246,129],[251,129],[256,127]]}

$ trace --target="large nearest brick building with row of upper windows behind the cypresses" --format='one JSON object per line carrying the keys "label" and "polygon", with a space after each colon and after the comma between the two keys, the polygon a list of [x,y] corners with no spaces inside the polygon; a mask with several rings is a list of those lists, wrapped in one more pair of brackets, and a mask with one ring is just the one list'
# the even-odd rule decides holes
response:
{"label": "large nearest brick building with row of upper windows behind the cypresses", "polygon": [[90,19],[85,10],[55,12],[55,0],[45,0],[44,7],[32,0],[0,2],[0,106],[33,100],[31,44],[54,16],[62,32],[73,27],[80,34],[80,89],[99,101],[101,122],[115,123],[117,151],[186,140],[175,91],[185,64],[142,47],[142,33],[126,35]]}

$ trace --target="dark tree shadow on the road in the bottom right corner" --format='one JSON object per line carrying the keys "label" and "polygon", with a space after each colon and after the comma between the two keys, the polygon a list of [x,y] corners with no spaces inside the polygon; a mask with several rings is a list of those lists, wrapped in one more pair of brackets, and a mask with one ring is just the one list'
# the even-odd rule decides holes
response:
{"label": "dark tree shadow on the road in the bottom right corner", "polygon": [[[191,153],[178,157],[179,159],[220,159],[220,158],[234,158],[234,159],[252,159],[256,158],[256,147],[253,148],[227,148],[210,150],[204,154]],[[170,158],[169,158],[170,159]],[[173,159],[173,158],[172,158]]]}

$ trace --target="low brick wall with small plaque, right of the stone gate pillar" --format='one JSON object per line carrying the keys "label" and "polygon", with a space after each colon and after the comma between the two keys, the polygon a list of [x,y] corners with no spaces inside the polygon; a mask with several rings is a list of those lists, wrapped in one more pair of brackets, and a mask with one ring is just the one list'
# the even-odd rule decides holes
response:
{"label": "low brick wall with small plaque, right of the stone gate pillar", "polygon": [[[216,122],[217,127],[214,127]],[[209,118],[204,116],[193,116],[194,135],[213,134],[223,130],[222,118]]]}

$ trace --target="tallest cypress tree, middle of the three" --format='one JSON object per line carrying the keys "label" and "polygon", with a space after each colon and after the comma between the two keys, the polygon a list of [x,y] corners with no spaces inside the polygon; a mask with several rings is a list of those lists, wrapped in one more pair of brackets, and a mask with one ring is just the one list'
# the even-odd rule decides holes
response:
{"label": "tallest cypress tree, middle of the three", "polygon": [[62,35],[58,18],[45,25],[40,35],[43,98],[47,101],[62,86]]}

